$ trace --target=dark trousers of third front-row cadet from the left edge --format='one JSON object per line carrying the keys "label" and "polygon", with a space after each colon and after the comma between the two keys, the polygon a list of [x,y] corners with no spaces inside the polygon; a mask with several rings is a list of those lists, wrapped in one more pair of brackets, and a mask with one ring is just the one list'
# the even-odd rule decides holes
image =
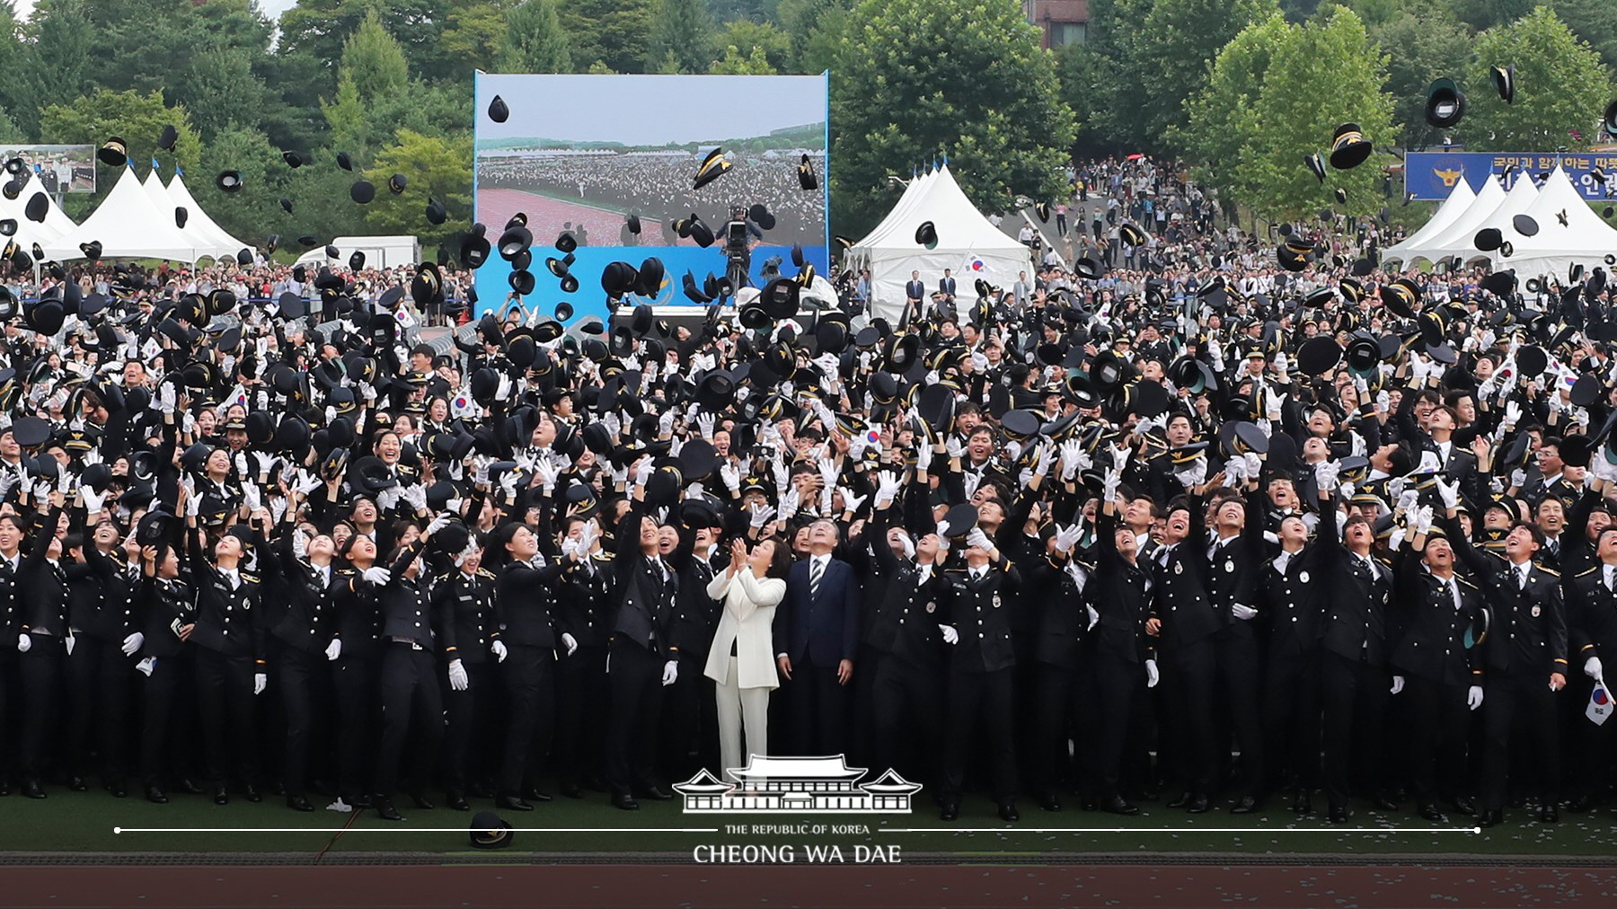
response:
{"label": "dark trousers of third front-row cadet from the left edge", "polygon": [[74,776],[91,772],[91,729],[103,781],[128,775],[129,697],[134,660],[120,641],[78,636],[68,655],[68,767]]}

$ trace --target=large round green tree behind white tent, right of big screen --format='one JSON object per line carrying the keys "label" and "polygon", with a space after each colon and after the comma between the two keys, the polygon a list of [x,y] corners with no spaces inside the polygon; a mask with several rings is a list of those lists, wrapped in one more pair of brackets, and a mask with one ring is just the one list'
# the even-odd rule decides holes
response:
{"label": "large round green tree behind white tent, right of big screen", "polygon": [[863,0],[831,70],[839,233],[891,202],[888,175],[948,155],[967,196],[1051,196],[1072,142],[1054,58],[1014,0]]}

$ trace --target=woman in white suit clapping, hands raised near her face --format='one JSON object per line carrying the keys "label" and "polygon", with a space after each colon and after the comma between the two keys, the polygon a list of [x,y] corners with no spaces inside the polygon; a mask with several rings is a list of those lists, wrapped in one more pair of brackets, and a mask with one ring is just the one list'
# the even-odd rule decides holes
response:
{"label": "woman in white suit clapping, hands raised near her face", "polygon": [[747,726],[745,754],[770,754],[770,691],[779,686],[771,624],[775,607],[786,597],[789,569],[791,553],[779,540],[760,540],[752,555],[744,540],[736,540],[729,569],[708,582],[708,597],[723,598],[724,611],[703,674],[718,683],[718,744],[731,783],[736,781],[731,770],[744,767],[742,723]]}

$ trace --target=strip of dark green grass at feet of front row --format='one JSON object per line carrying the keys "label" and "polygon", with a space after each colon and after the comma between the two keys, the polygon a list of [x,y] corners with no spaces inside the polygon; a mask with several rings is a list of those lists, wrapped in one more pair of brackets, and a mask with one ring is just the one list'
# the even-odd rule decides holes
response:
{"label": "strip of dark green grass at feet of front row", "polygon": [[[1289,805],[1274,804],[1258,815],[1227,812],[1188,815],[1159,804],[1142,805],[1138,817],[1109,814],[1045,812],[1022,805],[1022,820],[1003,823],[986,799],[962,804],[960,820],[943,823],[931,801],[922,796],[910,815],[686,815],[679,801],[642,802],[642,810],[614,810],[606,797],[590,793],[582,801],[561,799],[534,812],[503,817],[519,828],[516,849],[524,852],[669,854],[690,856],[699,844],[854,844],[902,848],[906,856],[948,854],[983,859],[1049,854],[1153,854],[1198,852],[1224,856],[1617,856],[1617,814],[1611,809],[1585,815],[1564,814],[1559,825],[1541,825],[1535,812],[1517,810],[1502,827],[1473,833],[1450,818],[1452,831],[1408,833],[1428,828],[1412,814],[1376,814],[1360,805],[1353,830],[1324,830],[1323,817],[1297,818]],[[323,802],[323,801],[322,801]],[[471,814],[445,807],[417,810],[409,799],[398,802],[403,823],[378,820],[372,812],[357,818],[317,810],[298,814],[281,799],[260,804],[234,799],[213,805],[204,796],[175,796],[154,805],[137,796],[113,799],[105,793],[52,789],[49,799],[16,794],[0,799],[0,851],[6,852],[251,852],[309,856],[356,852],[462,852],[462,833]],[[487,802],[472,804],[490,807]],[[1470,822],[1471,818],[1465,818]],[[823,836],[726,835],[728,823],[844,823],[868,827],[868,833]],[[344,831],[346,827],[346,831]],[[123,828],[123,833],[115,833]],[[155,828],[155,830],[154,830]],[[435,831],[435,828],[445,828]],[[543,830],[529,830],[543,828]],[[671,830],[673,828],[673,830]],[[700,831],[684,833],[679,828]],[[980,831],[964,833],[960,828]],[[1064,828],[1082,828],[1075,833]],[[1404,828],[1402,831],[1397,828]],[[453,830],[453,831],[451,831]],[[901,831],[902,830],[902,831]],[[800,854],[800,851],[799,851]],[[802,860],[802,859],[799,859]]]}

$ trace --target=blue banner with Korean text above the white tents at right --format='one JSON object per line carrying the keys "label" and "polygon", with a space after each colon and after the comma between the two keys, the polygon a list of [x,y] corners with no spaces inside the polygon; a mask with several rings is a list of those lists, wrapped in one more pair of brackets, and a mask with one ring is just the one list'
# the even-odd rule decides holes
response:
{"label": "blue banner with Korean text above the white tents at right", "polygon": [[1617,196],[1617,152],[1408,152],[1404,155],[1404,191],[1415,199],[1441,202],[1457,181],[1481,189],[1489,173],[1509,191],[1523,176],[1543,183],[1557,163],[1590,202]]}

